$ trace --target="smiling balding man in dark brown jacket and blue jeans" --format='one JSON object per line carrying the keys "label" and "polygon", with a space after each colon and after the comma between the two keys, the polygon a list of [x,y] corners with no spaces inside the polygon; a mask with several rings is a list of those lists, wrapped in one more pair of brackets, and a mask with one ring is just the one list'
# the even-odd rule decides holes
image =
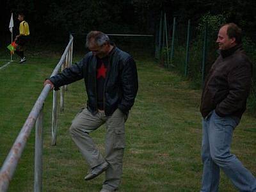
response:
{"label": "smiling balding man in dark brown jacket and blue jeans", "polygon": [[236,24],[223,25],[216,42],[220,56],[209,71],[200,106],[204,118],[201,191],[218,191],[220,168],[239,191],[256,191],[255,177],[230,154],[232,133],[246,109],[252,63],[242,49]]}

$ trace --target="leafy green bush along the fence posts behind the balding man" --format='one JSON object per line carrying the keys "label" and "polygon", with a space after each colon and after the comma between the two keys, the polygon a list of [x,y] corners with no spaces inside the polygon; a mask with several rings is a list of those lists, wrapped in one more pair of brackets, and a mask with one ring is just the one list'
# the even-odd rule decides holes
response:
{"label": "leafy green bush along the fence posts behind the balding man", "polygon": [[[218,49],[216,44],[216,38],[218,35],[218,30],[221,24],[226,23],[226,18],[224,15],[211,15],[207,13],[198,22],[198,25],[191,30],[191,33],[196,34],[193,39],[190,40],[189,45],[189,61],[188,61],[188,78],[193,83],[193,87],[202,87],[202,57],[203,57],[203,47],[204,47],[204,33],[205,33],[205,22],[208,23],[208,33],[207,33],[207,61],[205,63],[205,76],[207,76],[212,63],[218,57],[216,50]],[[185,60],[186,60],[186,27],[180,24],[181,27],[177,26],[177,31],[175,34],[175,46],[174,55],[172,62],[172,70],[178,72],[184,76],[185,72]],[[179,29],[183,31],[179,31]],[[184,36],[181,37],[180,35]],[[169,41],[170,44],[172,41]],[[248,109],[251,112],[255,112],[256,109],[256,44],[248,37],[243,38],[243,47],[248,54],[250,60],[253,63],[253,77],[252,77],[252,90],[250,97],[248,99]],[[171,49],[168,50],[170,57]],[[167,64],[167,50],[164,48],[161,52],[161,63],[166,66]]]}

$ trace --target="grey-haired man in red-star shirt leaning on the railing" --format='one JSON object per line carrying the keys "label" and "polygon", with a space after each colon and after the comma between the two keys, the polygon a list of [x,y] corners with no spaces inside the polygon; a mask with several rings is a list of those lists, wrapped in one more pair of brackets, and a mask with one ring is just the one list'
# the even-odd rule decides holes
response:
{"label": "grey-haired man in red-star shirt leaning on the railing", "polygon": [[[91,31],[86,36],[90,49],[79,63],[45,81],[55,90],[84,79],[87,107],[72,121],[70,134],[90,166],[85,180],[106,171],[102,192],[115,191],[122,175],[125,120],[138,91],[135,61],[109,42],[108,35]],[[106,157],[102,157],[89,134],[106,124]]]}

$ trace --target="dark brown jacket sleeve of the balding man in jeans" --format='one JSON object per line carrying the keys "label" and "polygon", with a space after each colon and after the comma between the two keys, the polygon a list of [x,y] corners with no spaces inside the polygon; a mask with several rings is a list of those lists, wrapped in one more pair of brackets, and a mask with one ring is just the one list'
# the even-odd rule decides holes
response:
{"label": "dark brown jacket sleeve of the balding man in jeans", "polygon": [[215,109],[217,115],[232,115],[234,112],[244,108],[250,93],[251,78],[251,63],[243,63],[243,65],[239,65],[228,74],[229,92],[227,97],[217,105]]}

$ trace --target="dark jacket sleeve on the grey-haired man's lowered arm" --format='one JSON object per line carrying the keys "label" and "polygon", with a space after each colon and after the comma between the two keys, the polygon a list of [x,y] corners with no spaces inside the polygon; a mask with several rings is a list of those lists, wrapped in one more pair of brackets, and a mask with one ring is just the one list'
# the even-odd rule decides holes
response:
{"label": "dark jacket sleeve on the grey-haired man's lowered arm", "polygon": [[121,73],[122,79],[122,100],[118,104],[118,108],[128,113],[134,104],[135,97],[138,92],[138,74],[136,63],[132,58],[129,58],[124,63],[124,68]]}

